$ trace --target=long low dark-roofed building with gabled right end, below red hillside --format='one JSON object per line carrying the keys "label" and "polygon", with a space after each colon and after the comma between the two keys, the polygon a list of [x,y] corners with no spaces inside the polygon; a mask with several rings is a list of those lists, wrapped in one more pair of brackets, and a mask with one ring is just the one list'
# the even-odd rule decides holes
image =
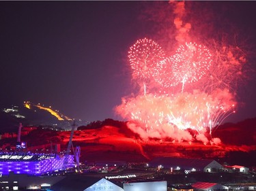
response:
{"label": "long low dark-roofed building with gabled right end, below red hillside", "polygon": [[171,172],[216,172],[221,171],[223,166],[215,160],[195,159],[195,158],[173,158],[159,157],[149,162],[149,167],[160,169],[168,169]]}

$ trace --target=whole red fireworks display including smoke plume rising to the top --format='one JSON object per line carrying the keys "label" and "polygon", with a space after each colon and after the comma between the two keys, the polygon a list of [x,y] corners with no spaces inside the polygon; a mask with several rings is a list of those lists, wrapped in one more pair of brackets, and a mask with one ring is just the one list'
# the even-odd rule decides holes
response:
{"label": "whole red fireworks display including smoke plume rising to the top", "polygon": [[[184,7],[184,3],[181,5]],[[184,9],[180,11],[184,13]],[[235,113],[236,82],[243,77],[245,55],[238,47],[216,43],[206,48],[203,44],[185,42],[191,39],[191,24],[185,26],[188,30],[180,31],[184,28],[180,18],[183,14],[175,14],[175,39],[179,44],[173,55],[165,56],[155,41],[146,38],[130,47],[132,79],[144,89],[144,94],[141,91],[123,98],[116,107],[117,114],[130,120],[130,129],[143,139],[196,139],[219,144],[220,139],[209,140],[207,134],[211,135],[218,124]],[[197,135],[192,135],[190,129]]]}

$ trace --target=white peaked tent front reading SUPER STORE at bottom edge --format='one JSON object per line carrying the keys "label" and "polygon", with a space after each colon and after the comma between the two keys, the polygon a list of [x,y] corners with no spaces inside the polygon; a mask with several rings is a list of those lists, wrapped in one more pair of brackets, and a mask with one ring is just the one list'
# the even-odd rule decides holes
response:
{"label": "white peaked tent front reading SUPER STORE at bottom edge", "polygon": [[86,188],[83,191],[124,191],[123,188],[113,184],[111,181],[108,181],[104,178],[96,182],[96,184],[91,185],[89,188]]}

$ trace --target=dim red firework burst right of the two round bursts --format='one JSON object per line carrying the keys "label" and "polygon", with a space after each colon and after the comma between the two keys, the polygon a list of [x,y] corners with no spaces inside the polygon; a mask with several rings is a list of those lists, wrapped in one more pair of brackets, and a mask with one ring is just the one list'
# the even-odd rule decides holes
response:
{"label": "dim red firework burst right of the two round bursts", "polygon": [[238,85],[242,85],[247,78],[246,54],[232,46],[215,47],[214,52],[213,64],[202,77],[203,83],[196,83],[195,86],[208,93],[216,88],[236,92]]}

